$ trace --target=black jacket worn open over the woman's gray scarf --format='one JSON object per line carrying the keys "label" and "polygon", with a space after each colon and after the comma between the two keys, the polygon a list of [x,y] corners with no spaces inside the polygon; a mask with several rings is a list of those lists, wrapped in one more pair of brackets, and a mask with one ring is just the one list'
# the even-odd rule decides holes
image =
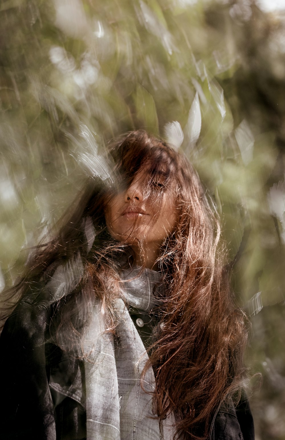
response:
{"label": "black jacket worn open over the woman's gray scarf", "polygon": [[[48,301],[29,296],[5,323],[0,337],[4,440],[86,439],[84,362],[47,343],[49,324]],[[254,440],[248,403],[221,405],[210,440],[241,439]]]}

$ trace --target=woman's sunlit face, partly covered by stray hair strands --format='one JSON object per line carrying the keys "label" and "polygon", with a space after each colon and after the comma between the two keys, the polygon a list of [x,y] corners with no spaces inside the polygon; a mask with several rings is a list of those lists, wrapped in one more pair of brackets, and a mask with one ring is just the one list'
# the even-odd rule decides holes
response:
{"label": "woman's sunlit face, partly covered by stray hair strands", "polygon": [[155,174],[143,165],[130,186],[117,193],[107,205],[106,224],[118,241],[160,246],[176,222],[175,193],[165,187],[163,172]]}

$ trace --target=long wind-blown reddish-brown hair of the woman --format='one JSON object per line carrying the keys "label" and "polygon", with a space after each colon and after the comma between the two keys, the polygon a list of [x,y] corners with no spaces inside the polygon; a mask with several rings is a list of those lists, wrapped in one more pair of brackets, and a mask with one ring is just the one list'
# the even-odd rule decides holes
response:
{"label": "long wind-blown reddish-brown hair of the woman", "polygon": [[[247,321],[234,305],[224,258],[217,251],[220,226],[214,204],[183,153],[143,130],[116,139],[110,144],[110,156],[114,176],[125,185],[146,162],[154,172],[162,167],[166,184],[174,185],[177,221],[157,258],[164,279],[160,311],[164,325],[157,326],[162,330],[157,330],[144,371],[152,366],[156,377],[154,414],[162,420],[174,411],[181,438],[206,438],[217,406],[240,388],[245,377],[247,341]],[[61,288],[54,289],[50,337],[83,358],[84,329],[92,319],[95,298],[100,300],[107,331],[115,334],[117,261],[127,256],[132,262],[130,246],[116,242],[106,228],[107,202],[119,190],[90,179],[58,237],[38,247],[14,288],[21,297],[40,297],[42,286],[48,291],[48,283],[58,278],[58,268],[68,267],[72,279],[63,279],[63,291],[62,280]]]}

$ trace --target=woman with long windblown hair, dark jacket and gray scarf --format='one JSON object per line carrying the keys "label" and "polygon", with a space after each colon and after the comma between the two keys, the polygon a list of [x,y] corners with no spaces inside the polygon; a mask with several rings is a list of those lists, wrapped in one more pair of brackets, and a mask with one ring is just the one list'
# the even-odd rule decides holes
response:
{"label": "woman with long windblown hair, dark jacket and gray scarf", "polygon": [[253,439],[213,205],[184,155],[142,130],[110,158],[15,287],[2,438]]}

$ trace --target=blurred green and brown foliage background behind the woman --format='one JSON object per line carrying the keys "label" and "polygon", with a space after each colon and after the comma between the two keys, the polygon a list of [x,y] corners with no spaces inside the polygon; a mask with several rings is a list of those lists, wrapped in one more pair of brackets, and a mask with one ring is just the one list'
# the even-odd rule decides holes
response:
{"label": "blurred green and brown foliage background behind the woman", "polygon": [[263,375],[252,381],[256,439],[281,440],[285,12],[267,6],[0,2],[0,285],[21,272],[110,137],[145,128],[178,143],[182,128],[180,148],[216,200],[234,292],[251,316],[247,363]]}

